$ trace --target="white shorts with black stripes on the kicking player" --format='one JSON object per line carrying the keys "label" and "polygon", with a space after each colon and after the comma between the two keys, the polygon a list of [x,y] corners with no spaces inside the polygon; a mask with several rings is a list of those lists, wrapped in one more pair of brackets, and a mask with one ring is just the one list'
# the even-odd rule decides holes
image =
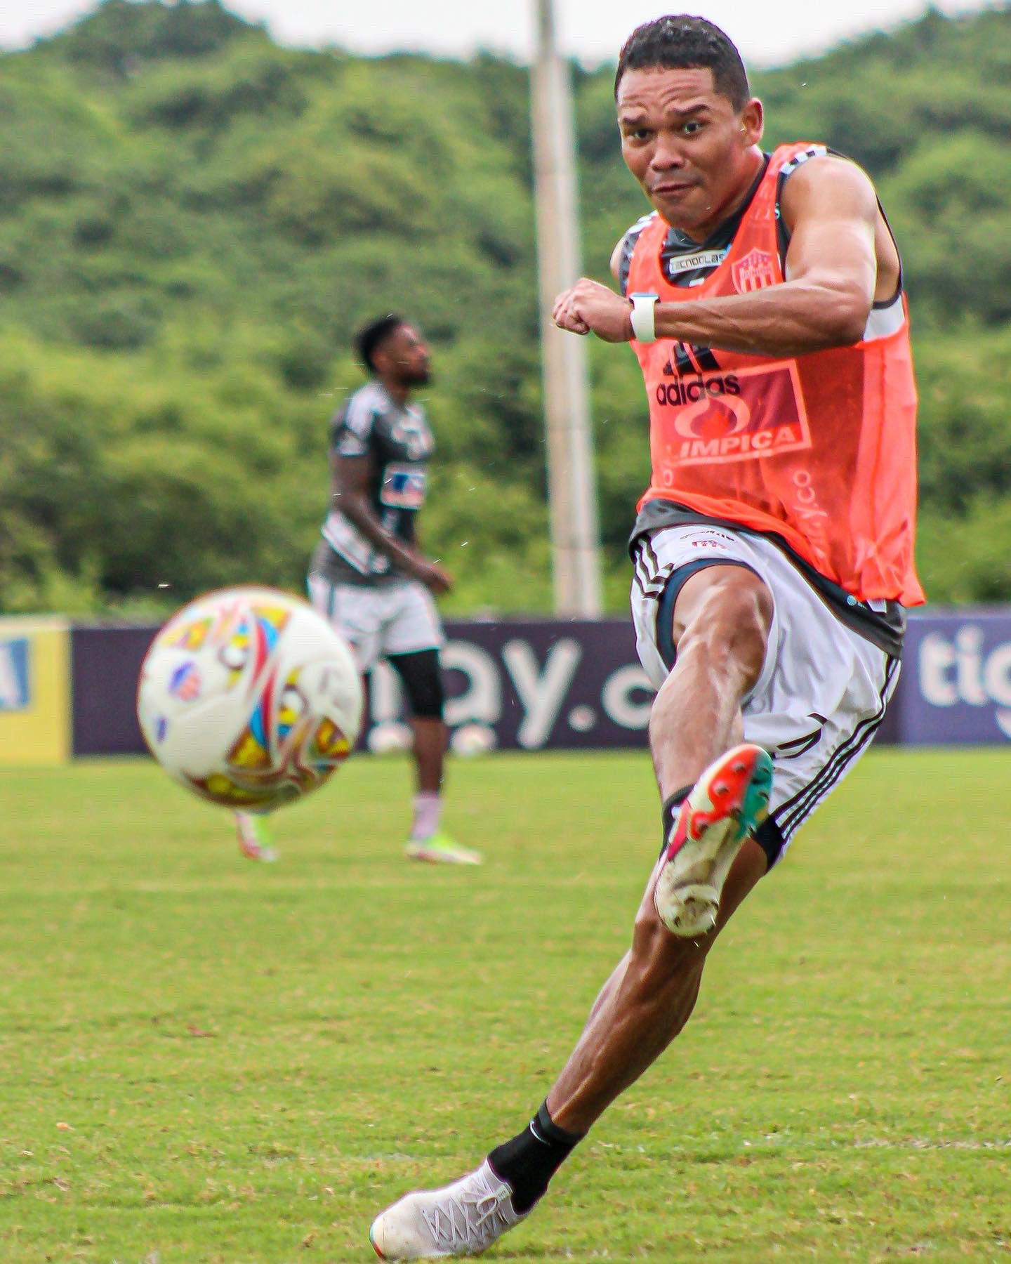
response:
{"label": "white shorts with black stripes on the kicking player", "polygon": [[744,565],[772,593],[766,660],[743,705],[744,739],[775,760],[770,815],[785,851],[867,750],[899,679],[899,661],[840,623],[786,555],[761,536],[665,527],[637,542],[634,561],[637,650],[657,689],[669,675],[657,613],[674,571],[700,561]]}

